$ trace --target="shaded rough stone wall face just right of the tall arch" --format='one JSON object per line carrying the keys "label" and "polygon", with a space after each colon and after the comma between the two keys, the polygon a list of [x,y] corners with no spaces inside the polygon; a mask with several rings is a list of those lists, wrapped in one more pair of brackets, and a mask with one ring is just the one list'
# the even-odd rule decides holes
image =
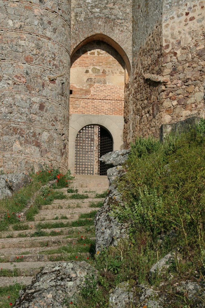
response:
{"label": "shaded rough stone wall face just right of the tall arch", "polygon": [[162,2],[134,0],[132,76],[125,89],[124,143],[126,148],[136,136],[148,135],[151,131],[152,114],[156,117],[159,109],[160,83],[146,77],[150,74],[160,75],[161,65]]}

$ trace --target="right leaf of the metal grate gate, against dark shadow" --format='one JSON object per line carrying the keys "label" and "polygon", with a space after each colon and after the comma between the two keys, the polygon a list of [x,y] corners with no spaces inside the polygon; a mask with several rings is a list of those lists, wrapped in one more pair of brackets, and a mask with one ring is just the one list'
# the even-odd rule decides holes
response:
{"label": "right leaf of the metal grate gate, against dark shadow", "polygon": [[[112,152],[112,138],[110,134],[102,127],[98,129],[98,139],[99,139],[99,158],[109,152]],[[109,166],[106,166],[105,163],[98,160],[98,174],[107,175],[107,170]]]}

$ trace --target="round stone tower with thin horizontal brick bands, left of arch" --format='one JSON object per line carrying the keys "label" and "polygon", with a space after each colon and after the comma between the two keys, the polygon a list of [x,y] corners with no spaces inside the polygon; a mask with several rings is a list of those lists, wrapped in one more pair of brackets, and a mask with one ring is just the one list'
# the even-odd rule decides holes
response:
{"label": "round stone tower with thin horizontal brick bands, left of arch", "polygon": [[71,0],[0,0],[0,169],[68,166]]}

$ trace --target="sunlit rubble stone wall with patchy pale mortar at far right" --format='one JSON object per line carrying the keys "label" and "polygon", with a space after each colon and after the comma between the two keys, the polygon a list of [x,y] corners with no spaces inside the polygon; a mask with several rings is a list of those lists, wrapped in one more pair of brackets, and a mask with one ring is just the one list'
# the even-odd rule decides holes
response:
{"label": "sunlit rubble stone wall with patchy pale mortar at far right", "polygon": [[161,124],[204,116],[205,1],[164,1]]}

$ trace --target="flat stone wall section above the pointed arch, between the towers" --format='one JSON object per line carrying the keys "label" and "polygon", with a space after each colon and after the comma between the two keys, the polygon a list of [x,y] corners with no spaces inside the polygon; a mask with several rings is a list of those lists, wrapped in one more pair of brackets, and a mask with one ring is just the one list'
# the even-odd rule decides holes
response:
{"label": "flat stone wall section above the pointed arch, between the towers", "polygon": [[[72,0],[71,52],[85,39],[104,34],[132,60],[132,0]],[[111,42],[108,40],[108,44]]]}

